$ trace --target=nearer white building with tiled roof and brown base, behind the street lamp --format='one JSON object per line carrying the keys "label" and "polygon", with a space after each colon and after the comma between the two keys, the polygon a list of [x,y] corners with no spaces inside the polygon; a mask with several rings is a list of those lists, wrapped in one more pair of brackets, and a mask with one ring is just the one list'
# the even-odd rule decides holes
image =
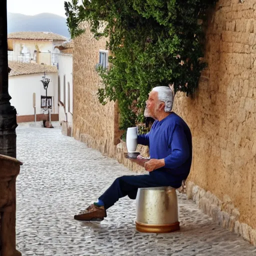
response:
{"label": "nearer white building with tiled roof and brown base, behind the street lamp", "polygon": [[17,110],[17,122],[34,120],[33,93],[35,93],[36,120],[45,117],[42,109],[45,106],[45,89],[40,80],[44,75],[50,79],[47,88],[48,103],[51,105],[51,119],[58,120],[58,74],[57,67],[8,61],[10,103]]}

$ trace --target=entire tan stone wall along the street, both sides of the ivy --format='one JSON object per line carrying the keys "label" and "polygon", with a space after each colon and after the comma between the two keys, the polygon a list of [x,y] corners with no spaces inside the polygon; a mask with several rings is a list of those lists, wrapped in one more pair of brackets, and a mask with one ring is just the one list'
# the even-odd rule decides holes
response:
{"label": "entire tan stone wall along the street, both sides of the ivy", "polygon": [[[191,128],[193,161],[187,194],[219,224],[256,245],[256,3],[219,0],[206,29],[205,60],[194,96],[177,93],[174,111]],[[98,50],[89,28],[74,40],[74,119],[76,139],[130,169],[119,142],[118,106],[97,100]],[[147,148],[139,147],[142,154]]]}

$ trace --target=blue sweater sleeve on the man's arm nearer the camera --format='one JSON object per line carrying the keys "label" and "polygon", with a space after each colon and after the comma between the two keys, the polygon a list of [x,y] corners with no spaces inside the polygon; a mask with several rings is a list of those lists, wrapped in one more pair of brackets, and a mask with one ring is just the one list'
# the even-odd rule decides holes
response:
{"label": "blue sweater sleeve on the man's arm nearer the camera", "polygon": [[176,125],[170,137],[171,154],[164,158],[164,167],[177,168],[189,157],[189,145],[184,130]]}

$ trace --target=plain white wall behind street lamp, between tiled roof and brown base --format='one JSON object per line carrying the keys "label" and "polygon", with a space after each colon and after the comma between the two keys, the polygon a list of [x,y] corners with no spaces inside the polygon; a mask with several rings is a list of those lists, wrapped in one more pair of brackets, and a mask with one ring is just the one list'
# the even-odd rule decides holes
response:
{"label": "plain white wall behind street lamp, between tiled roof and brown base", "polygon": [[[42,73],[9,76],[10,103],[16,108],[18,115],[34,114],[33,92],[36,95],[36,113],[41,113],[41,95],[45,96],[45,90],[40,81],[42,76]],[[53,96],[54,101],[52,113],[58,113],[57,73],[46,73],[46,77],[50,78],[47,95]]]}

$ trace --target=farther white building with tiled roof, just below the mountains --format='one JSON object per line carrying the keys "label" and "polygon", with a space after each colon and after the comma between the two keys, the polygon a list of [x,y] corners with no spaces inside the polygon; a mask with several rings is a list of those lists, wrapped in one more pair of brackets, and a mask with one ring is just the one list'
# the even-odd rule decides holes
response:
{"label": "farther white building with tiled roof, just below the mountains", "polygon": [[8,34],[8,60],[57,65],[56,45],[67,38],[52,32],[14,32]]}

